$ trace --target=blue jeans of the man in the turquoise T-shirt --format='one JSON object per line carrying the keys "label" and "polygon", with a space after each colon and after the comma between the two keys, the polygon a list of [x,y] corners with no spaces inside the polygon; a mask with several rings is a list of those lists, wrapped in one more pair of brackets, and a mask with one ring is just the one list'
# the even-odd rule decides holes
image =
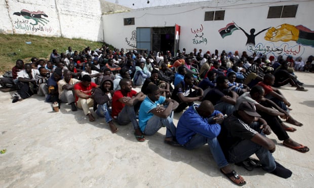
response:
{"label": "blue jeans of the man in the turquoise T-shirt", "polygon": [[173,111],[170,116],[167,118],[161,118],[156,115],[153,115],[148,121],[144,129],[144,134],[153,135],[156,133],[162,126],[165,125],[167,128],[166,137],[176,136],[176,126],[173,123]]}

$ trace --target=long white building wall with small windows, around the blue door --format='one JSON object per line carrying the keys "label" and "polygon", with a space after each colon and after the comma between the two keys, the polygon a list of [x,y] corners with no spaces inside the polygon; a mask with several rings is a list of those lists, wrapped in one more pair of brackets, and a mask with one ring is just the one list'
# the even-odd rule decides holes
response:
{"label": "long white building wall with small windows, around the blue door", "polygon": [[[220,1],[221,2],[221,1]],[[253,3],[251,3],[253,2]],[[258,3],[261,2],[261,3]],[[295,18],[276,18],[267,19],[268,9],[270,6],[283,6],[283,5],[298,5],[298,10]],[[183,4],[182,6],[168,6],[168,7],[155,7],[137,9],[127,13],[119,13],[112,15],[103,15],[105,41],[114,45],[116,48],[130,48],[125,38],[131,37],[131,32],[136,30],[136,27],[164,27],[174,26],[178,24],[181,26],[180,33],[180,50],[186,48],[187,52],[191,52],[194,48],[203,49],[203,52],[210,51],[214,53],[215,49],[226,52],[231,51],[257,51],[278,57],[280,52],[272,52],[272,49],[282,49],[281,55],[285,57],[292,55],[293,57],[302,56],[303,59],[309,55],[313,55],[313,47],[296,43],[296,41],[277,41],[270,42],[264,39],[264,31],[255,37],[256,46],[247,46],[247,37],[241,30],[234,31],[230,36],[221,37],[218,30],[225,27],[228,23],[234,21],[242,27],[247,33],[250,33],[251,28],[255,28],[255,34],[260,30],[268,27],[278,27],[281,24],[287,23],[291,25],[303,25],[310,30],[314,30],[314,24],[311,19],[314,16],[311,10],[314,7],[314,1],[286,1],[274,3],[263,2],[258,0],[253,1],[237,1],[237,3],[217,3],[216,1]],[[223,21],[204,21],[206,11],[225,10],[225,17]],[[135,25],[124,26],[124,18],[135,18]],[[201,26],[202,25],[202,26]],[[193,43],[193,39],[198,33],[192,33],[197,29],[203,28],[199,35],[202,35],[207,43]],[[267,48],[269,46],[269,48]],[[268,49],[268,51],[267,51]],[[265,52],[264,52],[265,50]],[[286,53],[284,53],[286,51]],[[292,52],[291,52],[292,51]]]}

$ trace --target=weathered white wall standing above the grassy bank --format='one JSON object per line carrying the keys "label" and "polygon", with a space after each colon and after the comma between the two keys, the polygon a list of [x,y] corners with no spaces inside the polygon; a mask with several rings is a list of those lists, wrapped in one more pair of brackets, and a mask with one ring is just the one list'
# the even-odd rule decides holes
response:
{"label": "weathered white wall standing above the grassy bank", "polygon": [[[0,31],[3,33],[64,36],[102,40],[101,9],[99,0],[2,0]],[[48,17],[27,19],[14,15],[27,10],[42,11]],[[35,13],[36,14],[36,13]],[[36,23],[37,20],[37,23]],[[101,31],[101,32],[100,32]]]}

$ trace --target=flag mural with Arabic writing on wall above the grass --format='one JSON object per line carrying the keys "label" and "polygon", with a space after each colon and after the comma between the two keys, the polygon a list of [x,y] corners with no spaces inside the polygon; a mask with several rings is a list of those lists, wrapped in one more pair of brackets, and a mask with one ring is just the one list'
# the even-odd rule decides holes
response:
{"label": "flag mural with Arabic writing on wall above the grass", "polygon": [[[21,12],[15,12],[13,15],[21,16],[22,19],[13,20],[13,25],[16,29],[32,32],[48,32],[53,31],[52,27],[45,26],[48,24],[48,15],[43,11],[30,12],[26,9],[22,9]],[[43,18],[46,17],[46,18]]]}

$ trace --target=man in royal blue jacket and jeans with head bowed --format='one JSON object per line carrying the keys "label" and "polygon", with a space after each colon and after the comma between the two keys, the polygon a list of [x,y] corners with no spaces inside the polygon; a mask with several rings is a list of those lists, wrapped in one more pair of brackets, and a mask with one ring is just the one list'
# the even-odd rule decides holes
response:
{"label": "man in royal blue jacket and jeans with head bowed", "polygon": [[245,180],[237,172],[231,170],[217,140],[221,130],[219,124],[223,120],[221,112],[215,110],[210,101],[203,101],[201,105],[194,104],[180,117],[176,138],[178,143],[188,150],[208,144],[220,171],[234,183],[244,185],[246,184]]}

